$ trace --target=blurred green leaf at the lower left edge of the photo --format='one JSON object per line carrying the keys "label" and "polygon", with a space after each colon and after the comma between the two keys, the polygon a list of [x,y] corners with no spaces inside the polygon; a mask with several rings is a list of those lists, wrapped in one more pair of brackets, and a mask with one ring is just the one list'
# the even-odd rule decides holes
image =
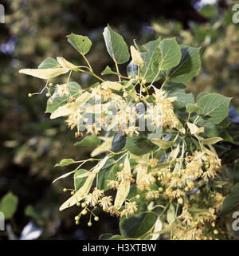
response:
{"label": "blurred green leaf at the lower left edge of the photo", "polygon": [[18,196],[9,192],[2,197],[0,202],[0,211],[5,216],[5,219],[11,219],[18,208]]}

